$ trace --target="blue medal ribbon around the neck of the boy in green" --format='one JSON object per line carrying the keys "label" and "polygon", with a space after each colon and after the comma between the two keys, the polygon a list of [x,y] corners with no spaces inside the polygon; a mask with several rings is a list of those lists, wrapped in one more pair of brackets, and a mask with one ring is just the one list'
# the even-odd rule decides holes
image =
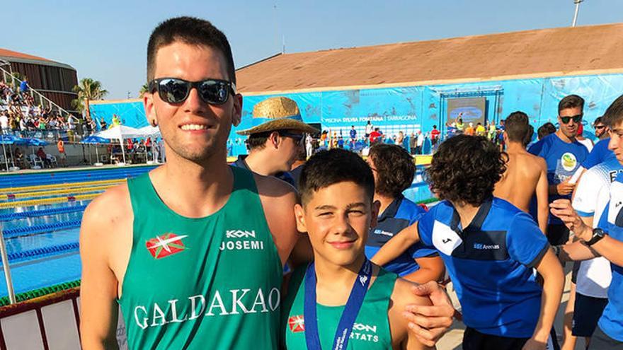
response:
{"label": "blue medal ribbon around the neck of the boy in green", "polygon": [[[365,259],[353,288],[350,289],[350,296],[340,317],[338,329],[333,339],[333,350],[343,350],[348,346],[350,332],[353,331],[355,319],[359,313],[367,288],[370,286],[372,277],[372,263]],[[305,320],[305,342],[309,350],[321,350],[320,337],[318,333],[318,317],[316,316],[316,269],[312,262],[305,272],[305,298],[303,317]]]}

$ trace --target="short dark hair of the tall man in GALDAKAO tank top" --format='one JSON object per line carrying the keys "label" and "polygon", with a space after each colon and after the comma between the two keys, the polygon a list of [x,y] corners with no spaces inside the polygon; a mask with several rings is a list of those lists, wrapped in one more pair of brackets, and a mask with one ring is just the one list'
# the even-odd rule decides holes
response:
{"label": "short dark hair of the tall man in GALDAKAO tank top", "polygon": [[175,17],[160,23],[149,36],[147,44],[147,81],[154,79],[158,49],[173,42],[202,45],[222,52],[227,64],[229,81],[236,83],[234,57],[227,37],[212,23],[195,17]]}

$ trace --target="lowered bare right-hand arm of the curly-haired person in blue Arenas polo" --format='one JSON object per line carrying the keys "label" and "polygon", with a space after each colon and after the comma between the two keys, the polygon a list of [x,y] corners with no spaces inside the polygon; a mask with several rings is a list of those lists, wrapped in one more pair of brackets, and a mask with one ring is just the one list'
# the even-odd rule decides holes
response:
{"label": "lowered bare right-hand arm of the curly-haired person in blue Arenas polo", "polygon": [[554,317],[556,317],[556,311],[560,305],[564,286],[562,267],[551,249],[547,250],[539,264],[537,264],[537,271],[543,276],[541,313],[537,328],[523,349],[538,348],[537,345],[541,344],[542,346],[547,343],[551,325],[554,324]]}

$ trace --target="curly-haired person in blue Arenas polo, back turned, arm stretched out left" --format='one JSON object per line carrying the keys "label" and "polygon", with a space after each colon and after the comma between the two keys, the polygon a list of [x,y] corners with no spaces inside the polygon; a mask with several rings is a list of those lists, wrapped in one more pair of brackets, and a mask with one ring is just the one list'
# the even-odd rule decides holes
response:
{"label": "curly-haired person in blue Arenas polo, back turned, arm stretched out left", "polygon": [[484,137],[459,135],[440,144],[426,173],[442,202],[372,259],[385,264],[417,242],[435,247],[462,305],[464,350],[544,349],[552,342],[564,275],[535,221],[493,197],[504,170],[500,150]]}

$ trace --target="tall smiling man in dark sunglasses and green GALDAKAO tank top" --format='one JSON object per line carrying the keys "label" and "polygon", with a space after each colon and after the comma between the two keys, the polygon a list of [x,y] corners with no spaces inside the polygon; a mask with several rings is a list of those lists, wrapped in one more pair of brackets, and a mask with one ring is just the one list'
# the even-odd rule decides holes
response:
{"label": "tall smiling man in dark sunglasses and green GALDAKAO tank top", "polygon": [[[227,165],[242,110],[227,37],[198,18],[160,23],[147,81],[145,114],[160,127],[167,160],[84,212],[82,348],[117,349],[120,306],[129,349],[278,349],[297,199],[280,180]],[[437,284],[414,293],[434,304],[408,310],[411,331],[430,344],[453,309]]]}

